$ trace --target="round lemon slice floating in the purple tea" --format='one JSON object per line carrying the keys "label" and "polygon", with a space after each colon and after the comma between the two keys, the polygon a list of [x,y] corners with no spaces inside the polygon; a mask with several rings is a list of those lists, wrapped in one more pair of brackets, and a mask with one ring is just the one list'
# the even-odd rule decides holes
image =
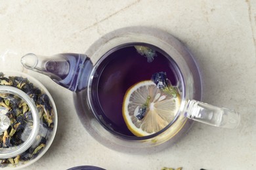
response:
{"label": "round lemon slice floating in the purple tea", "polygon": [[[148,102],[147,102],[148,101]],[[138,110],[147,102],[144,118],[137,118]],[[167,126],[177,114],[180,97],[162,93],[151,80],[139,82],[127,90],[123,99],[123,118],[136,136],[151,135]]]}

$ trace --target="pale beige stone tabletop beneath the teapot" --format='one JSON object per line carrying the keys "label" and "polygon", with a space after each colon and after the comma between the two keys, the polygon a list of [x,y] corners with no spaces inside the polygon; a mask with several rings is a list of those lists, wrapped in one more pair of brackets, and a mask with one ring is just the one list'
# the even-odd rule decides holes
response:
{"label": "pale beige stone tabletop beneath the teapot", "polygon": [[83,128],[72,92],[28,72],[53,95],[58,130],[47,153],[26,169],[256,169],[255,0],[0,0],[1,65],[18,69],[20,56],[28,52],[84,53],[102,35],[133,25],[160,28],[184,42],[202,73],[202,100],[237,110],[241,126],[231,130],[195,123],[181,141],[165,150],[117,152]]}

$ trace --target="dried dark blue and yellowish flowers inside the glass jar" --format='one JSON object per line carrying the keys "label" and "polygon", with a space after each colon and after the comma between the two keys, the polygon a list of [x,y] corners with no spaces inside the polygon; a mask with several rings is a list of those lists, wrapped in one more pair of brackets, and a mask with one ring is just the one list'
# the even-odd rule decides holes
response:
{"label": "dried dark blue and yellowish flowers inside the glass jar", "polygon": [[[0,160],[0,167],[18,165],[20,161],[29,161],[35,158],[45,148],[54,127],[54,111],[49,97],[34,86],[28,78],[21,76],[5,77],[0,73],[0,86],[12,86],[28,94],[38,110],[40,126],[35,143],[26,152],[14,157]],[[0,152],[24,143],[33,127],[32,112],[28,105],[19,97],[12,94],[0,93],[0,114],[9,117],[11,125],[0,133]]]}

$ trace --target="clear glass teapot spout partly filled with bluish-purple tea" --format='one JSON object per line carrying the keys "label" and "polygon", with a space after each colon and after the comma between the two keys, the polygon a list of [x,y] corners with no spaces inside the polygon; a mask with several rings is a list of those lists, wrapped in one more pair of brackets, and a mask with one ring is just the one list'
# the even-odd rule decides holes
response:
{"label": "clear glass teapot spout partly filled with bluish-purple tea", "polygon": [[26,69],[49,76],[54,82],[73,92],[87,87],[93,63],[85,54],[56,54],[39,56],[26,54],[22,56],[22,65]]}

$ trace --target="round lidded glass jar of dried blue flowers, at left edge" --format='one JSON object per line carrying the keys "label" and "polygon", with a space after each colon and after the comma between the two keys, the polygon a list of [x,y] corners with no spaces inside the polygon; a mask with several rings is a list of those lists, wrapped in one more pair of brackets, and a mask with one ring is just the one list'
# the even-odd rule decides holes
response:
{"label": "round lidded glass jar of dried blue flowers, at left edge", "polygon": [[17,71],[0,73],[0,166],[26,167],[53,143],[57,112],[48,90]]}

